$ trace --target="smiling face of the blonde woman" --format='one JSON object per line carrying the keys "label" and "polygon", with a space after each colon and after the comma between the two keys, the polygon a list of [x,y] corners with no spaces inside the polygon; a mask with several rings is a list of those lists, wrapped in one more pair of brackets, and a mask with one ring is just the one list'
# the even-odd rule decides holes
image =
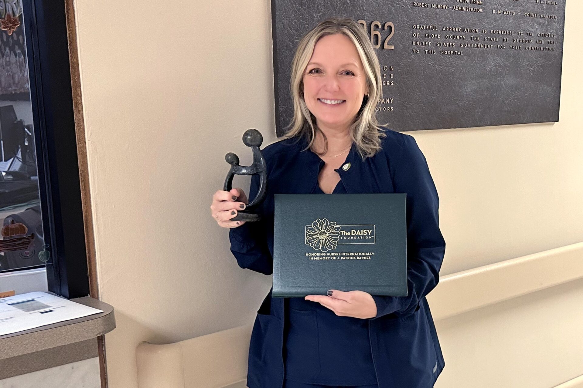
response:
{"label": "smiling face of the blonde woman", "polygon": [[303,83],[305,104],[321,129],[349,128],[368,94],[359,53],[343,34],[318,40]]}

